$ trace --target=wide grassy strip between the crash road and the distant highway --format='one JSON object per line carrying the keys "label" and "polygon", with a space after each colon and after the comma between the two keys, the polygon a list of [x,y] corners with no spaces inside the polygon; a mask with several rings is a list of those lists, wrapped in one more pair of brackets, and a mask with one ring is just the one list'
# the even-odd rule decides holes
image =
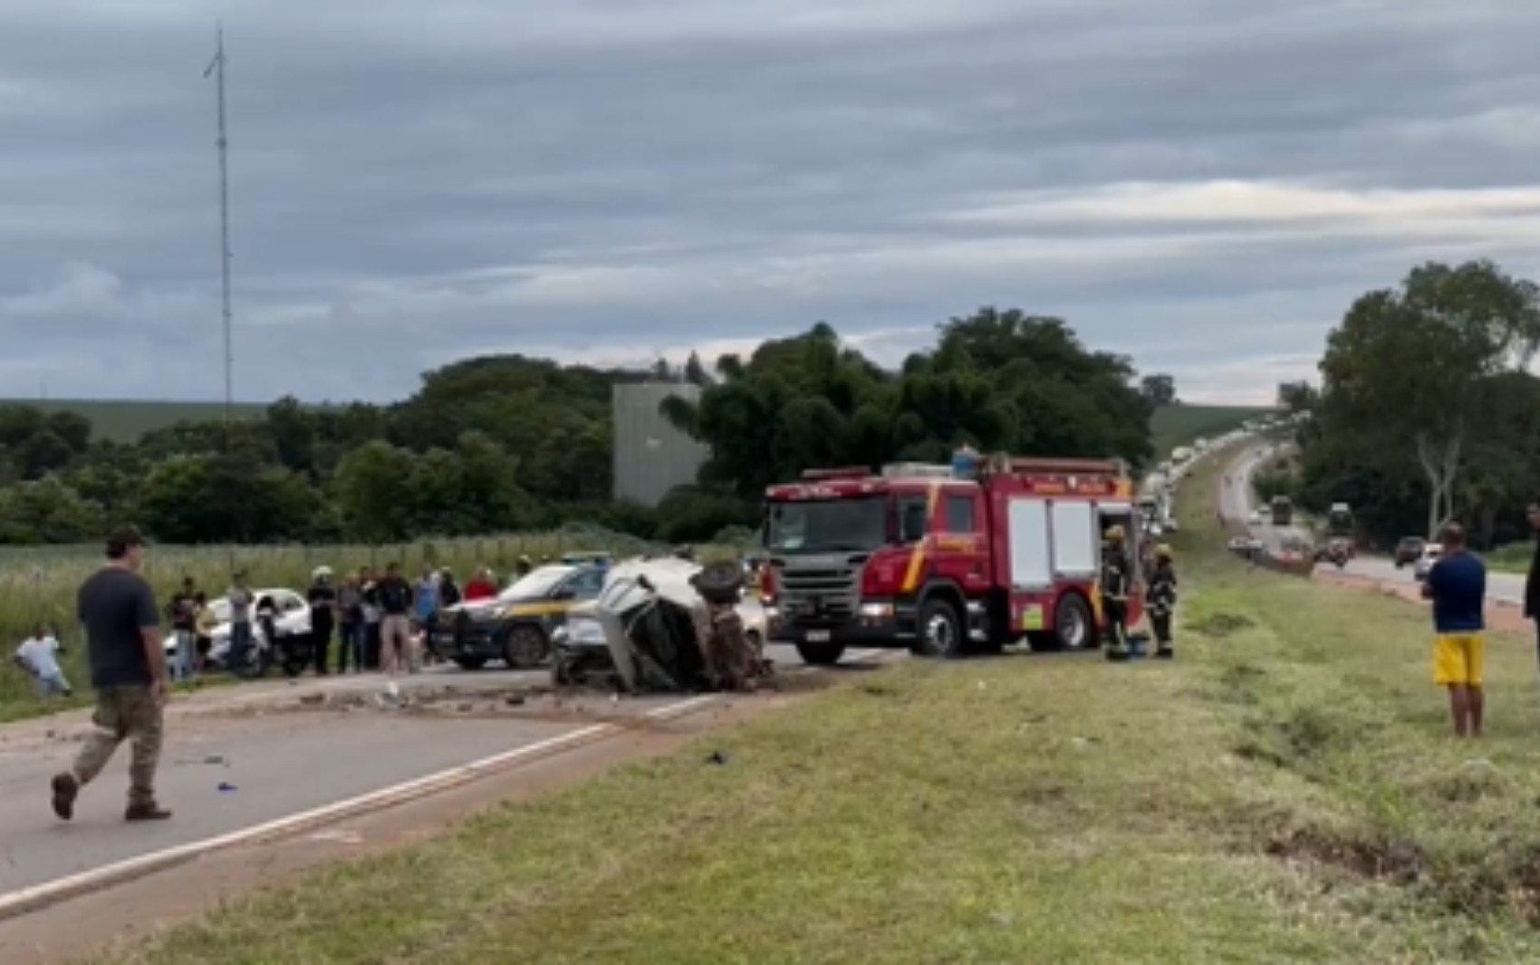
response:
{"label": "wide grassy strip between the crash road and the distant highway", "polygon": [[99,960],[1537,960],[1529,641],[1492,635],[1488,734],[1452,740],[1423,607],[1247,570],[1212,472],[1173,663],[859,675]]}

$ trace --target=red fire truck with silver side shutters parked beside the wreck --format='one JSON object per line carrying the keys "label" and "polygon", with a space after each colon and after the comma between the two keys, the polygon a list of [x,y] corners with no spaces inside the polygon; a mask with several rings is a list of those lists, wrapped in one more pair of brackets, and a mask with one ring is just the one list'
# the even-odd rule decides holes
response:
{"label": "red fire truck with silver side shutters parked beside the wreck", "polygon": [[807,663],[847,647],[918,655],[1095,646],[1103,533],[1121,526],[1141,618],[1133,482],[1118,459],[808,470],[765,498],[770,635]]}

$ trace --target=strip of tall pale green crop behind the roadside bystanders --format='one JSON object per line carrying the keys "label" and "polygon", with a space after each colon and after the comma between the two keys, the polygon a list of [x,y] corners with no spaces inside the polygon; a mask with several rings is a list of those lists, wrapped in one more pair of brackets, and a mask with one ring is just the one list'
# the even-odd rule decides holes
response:
{"label": "strip of tall pale green crop behind the roadside bystanders", "polygon": [[[616,555],[658,552],[658,547],[599,527],[570,526],[548,533],[511,533],[476,540],[425,540],[396,546],[151,546],[145,553],[145,577],[156,586],[160,600],[191,577],[211,597],[229,586],[234,569],[245,569],[253,589],[310,586],[317,566],[330,566],[339,575],[363,566],[383,567],[400,563],[408,577],[428,566],[447,566],[464,583],[477,567],[487,566],[507,583],[519,556],[536,564],[544,558],[582,550],[608,550]],[[715,550],[701,550],[710,555]],[[31,680],[9,661],[37,623],[52,626],[65,652],[65,674],[79,692],[88,683],[80,627],[74,615],[75,589],[92,569],[100,566],[102,552],[95,546],[79,547],[0,547],[0,721],[32,717],[59,704],[40,704]]]}

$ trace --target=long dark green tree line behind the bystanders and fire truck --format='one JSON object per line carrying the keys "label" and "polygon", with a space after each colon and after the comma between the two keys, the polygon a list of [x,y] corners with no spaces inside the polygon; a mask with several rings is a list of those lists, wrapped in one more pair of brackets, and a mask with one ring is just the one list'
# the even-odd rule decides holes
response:
{"label": "long dark green tree line behind the bystanders and fire truck", "polygon": [[[656,509],[616,504],[611,387],[695,382],[664,407],[710,447],[693,486]],[[88,419],[0,405],[0,543],[95,541],[136,519],[179,544],[400,541],[598,523],[648,540],[701,541],[758,521],[765,486],[808,466],[946,461],[959,444],[1146,464],[1149,416],[1170,376],[1095,351],[1061,319],[983,308],[887,372],[827,324],[708,370],[559,365],[521,355],[430,372],[393,405],[313,407],[189,421],[132,444]]]}

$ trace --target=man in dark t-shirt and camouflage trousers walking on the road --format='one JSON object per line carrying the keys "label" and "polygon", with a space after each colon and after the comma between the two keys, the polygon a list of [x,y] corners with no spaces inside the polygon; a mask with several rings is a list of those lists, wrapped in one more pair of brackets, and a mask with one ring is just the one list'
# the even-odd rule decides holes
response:
{"label": "man in dark t-shirt and camouflage trousers walking on the road", "polygon": [[102,772],[125,738],[132,754],[125,820],[171,817],[156,802],[166,651],[160,638],[156,593],[139,575],[143,552],[145,540],[137,529],[125,526],[114,530],[106,541],[106,566],[80,586],[75,600],[86,629],[97,706],[91,718],[95,729],[80,748],[74,768],[54,775],[54,814],[63,820],[74,817],[80,788]]}

